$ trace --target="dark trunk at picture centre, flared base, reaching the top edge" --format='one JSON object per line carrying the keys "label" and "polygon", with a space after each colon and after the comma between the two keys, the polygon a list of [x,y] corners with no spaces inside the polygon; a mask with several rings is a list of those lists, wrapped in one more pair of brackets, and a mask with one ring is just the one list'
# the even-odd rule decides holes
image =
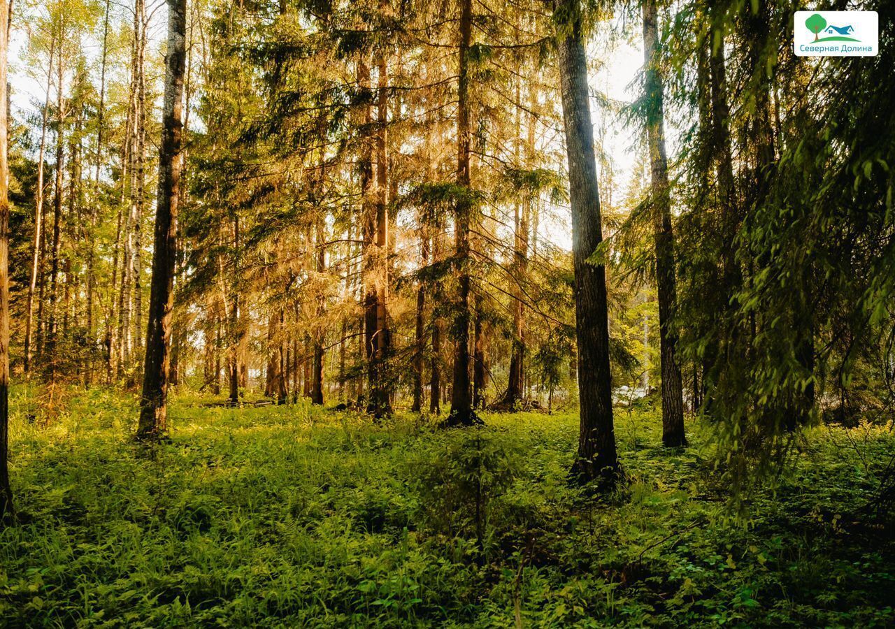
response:
{"label": "dark trunk at picture centre, flared base, reaching the top edge", "polygon": [[450,416],[447,424],[469,426],[475,423],[472,387],[469,381],[469,218],[472,208],[468,201],[470,192],[469,162],[471,133],[469,122],[469,47],[473,37],[473,2],[460,3],[460,46],[458,51],[459,72],[456,108],[456,183],[463,195],[456,202],[454,213],[454,248],[459,265],[459,293],[456,299],[454,320],[454,385],[451,392]]}

